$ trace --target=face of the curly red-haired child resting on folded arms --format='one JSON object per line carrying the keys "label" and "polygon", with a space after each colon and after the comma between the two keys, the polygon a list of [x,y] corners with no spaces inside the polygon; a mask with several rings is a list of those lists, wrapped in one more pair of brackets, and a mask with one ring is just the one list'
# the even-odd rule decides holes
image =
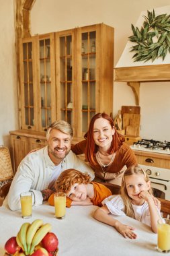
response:
{"label": "face of the curly red-haired child resting on folded arms", "polygon": [[83,201],[87,198],[87,187],[85,184],[75,183],[71,186],[70,191],[67,193],[67,197],[69,197],[73,201]]}

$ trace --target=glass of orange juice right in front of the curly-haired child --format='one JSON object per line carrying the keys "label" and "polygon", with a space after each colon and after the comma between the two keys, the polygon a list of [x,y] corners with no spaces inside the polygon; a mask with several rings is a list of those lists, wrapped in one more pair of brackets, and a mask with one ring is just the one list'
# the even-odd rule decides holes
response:
{"label": "glass of orange juice right in front of the curly-haired child", "polygon": [[54,194],[55,216],[58,219],[65,218],[66,214],[66,194],[57,192]]}

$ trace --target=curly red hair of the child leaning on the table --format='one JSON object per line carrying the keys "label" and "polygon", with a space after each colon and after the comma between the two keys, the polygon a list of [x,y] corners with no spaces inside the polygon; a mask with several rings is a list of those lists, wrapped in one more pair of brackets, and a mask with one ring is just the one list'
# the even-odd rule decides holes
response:
{"label": "curly red hair of the child leaning on the table", "polygon": [[75,184],[87,184],[90,182],[90,175],[88,173],[79,172],[75,169],[64,170],[55,182],[56,191],[68,193],[71,187]]}

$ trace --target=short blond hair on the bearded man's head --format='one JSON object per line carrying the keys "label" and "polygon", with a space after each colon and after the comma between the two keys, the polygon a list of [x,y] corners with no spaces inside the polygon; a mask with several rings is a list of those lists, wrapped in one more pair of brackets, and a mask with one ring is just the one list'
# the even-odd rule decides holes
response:
{"label": "short blond hair on the bearded man's head", "polygon": [[73,137],[73,129],[72,129],[71,125],[69,123],[67,123],[66,121],[57,120],[54,123],[52,123],[46,131],[46,139],[49,139],[50,132],[52,131],[52,129],[57,129],[57,130],[61,131],[62,133],[69,134],[69,135],[71,135],[71,137]]}

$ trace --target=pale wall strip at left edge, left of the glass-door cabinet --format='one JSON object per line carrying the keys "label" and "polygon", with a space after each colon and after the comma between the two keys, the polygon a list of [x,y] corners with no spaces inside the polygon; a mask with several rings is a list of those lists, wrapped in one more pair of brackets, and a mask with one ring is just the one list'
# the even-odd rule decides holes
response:
{"label": "pale wall strip at left edge, left of the glass-door cabinet", "polygon": [[0,0],[0,145],[18,128],[13,0]]}

